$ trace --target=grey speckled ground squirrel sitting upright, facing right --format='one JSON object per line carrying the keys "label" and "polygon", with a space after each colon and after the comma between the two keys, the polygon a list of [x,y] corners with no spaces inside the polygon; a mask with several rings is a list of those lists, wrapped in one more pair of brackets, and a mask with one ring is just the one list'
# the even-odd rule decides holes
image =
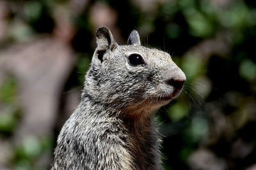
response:
{"label": "grey speckled ground squirrel sitting upright, facing right", "polygon": [[154,111],[177,97],[185,74],[132,31],[118,45],[108,27],[97,48],[81,103],[58,136],[51,169],[163,169]]}

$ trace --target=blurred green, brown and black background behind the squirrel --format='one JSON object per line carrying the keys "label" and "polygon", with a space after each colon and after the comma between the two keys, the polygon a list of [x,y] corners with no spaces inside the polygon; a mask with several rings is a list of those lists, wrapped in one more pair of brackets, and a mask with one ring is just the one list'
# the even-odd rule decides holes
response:
{"label": "blurred green, brown and black background behind the squirrel", "polygon": [[165,169],[256,169],[254,0],[0,1],[0,169],[49,169],[97,27],[172,55],[188,81],[157,112]]}

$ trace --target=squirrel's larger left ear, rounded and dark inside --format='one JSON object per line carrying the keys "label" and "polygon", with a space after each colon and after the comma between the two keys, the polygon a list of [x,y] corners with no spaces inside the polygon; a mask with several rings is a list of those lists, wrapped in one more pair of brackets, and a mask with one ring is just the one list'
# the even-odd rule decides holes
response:
{"label": "squirrel's larger left ear, rounded and dark inside", "polygon": [[100,51],[113,50],[117,43],[108,27],[99,27],[96,31],[97,48]]}

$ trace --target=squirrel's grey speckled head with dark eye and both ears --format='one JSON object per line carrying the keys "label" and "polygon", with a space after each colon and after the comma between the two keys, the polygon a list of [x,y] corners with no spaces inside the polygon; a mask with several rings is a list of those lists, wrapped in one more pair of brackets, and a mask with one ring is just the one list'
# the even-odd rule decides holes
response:
{"label": "squirrel's grey speckled head with dark eye and both ears", "polygon": [[84,97],[140,114],[151,113],[179,96],[185,74],[168,53],[141,46],[137,31],[131,32],[127,45],[118,45],[108,27],[99,27],[96,38]]}

